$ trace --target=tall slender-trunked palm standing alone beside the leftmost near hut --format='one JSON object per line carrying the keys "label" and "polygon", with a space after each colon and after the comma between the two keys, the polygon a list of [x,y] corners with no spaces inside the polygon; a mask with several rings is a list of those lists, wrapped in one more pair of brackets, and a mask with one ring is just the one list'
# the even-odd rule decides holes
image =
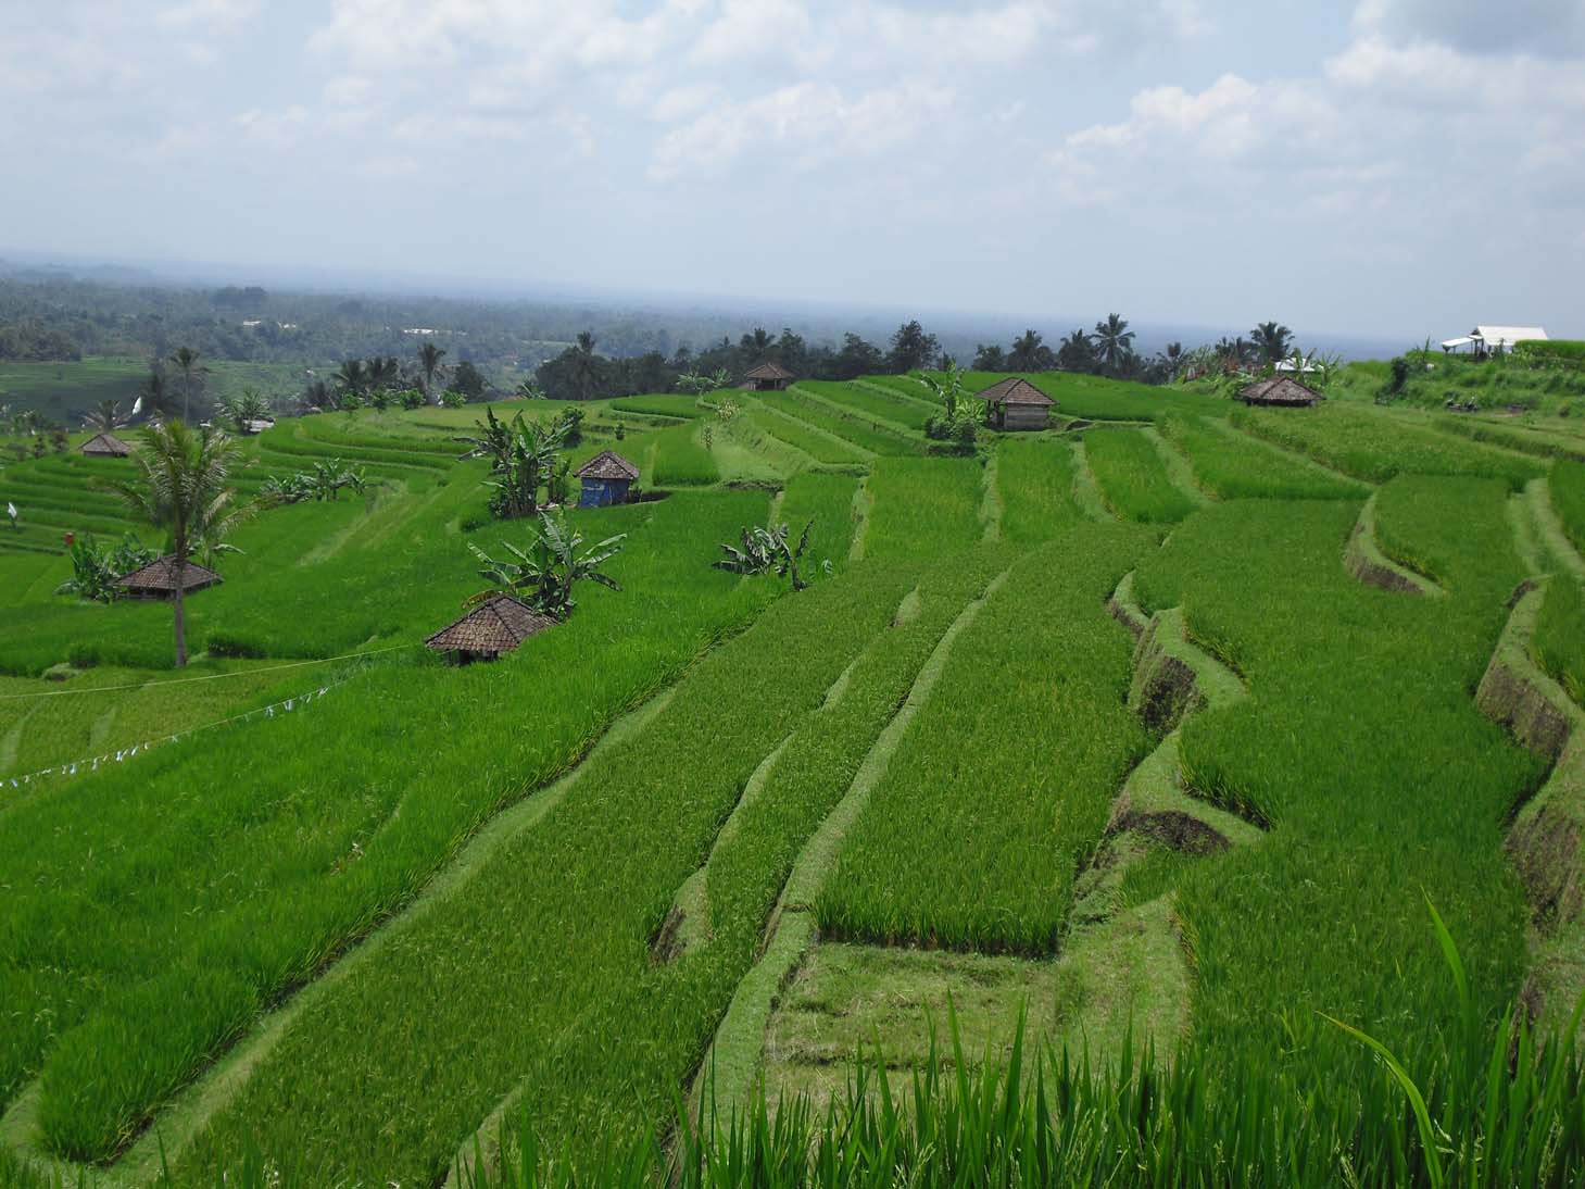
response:
{"label": "tall slender-trunked palm standing alone beside the leftmost near hut", "polygon": [[132,452],[138,474],[132,482],[108,484],[136,515],[170,533],[176,568],[171,606],[176,614],[176,666],[187,664],[187,614],[182,587],[193,553],[212,553],[246,515],[231,506],[227,480],[238,458],[236,442],[204,426],[197,434],[184,422],[146,426]]}

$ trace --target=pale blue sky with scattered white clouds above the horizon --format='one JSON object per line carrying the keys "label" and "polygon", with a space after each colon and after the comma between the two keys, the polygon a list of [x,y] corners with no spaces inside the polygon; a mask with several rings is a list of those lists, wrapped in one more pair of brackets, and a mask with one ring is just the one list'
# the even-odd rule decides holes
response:
{"label": "pale blue sky with scattered white clouds above the horizon", "polygon": [[1585,338],[1585,0],[0,0],[0,255]]}

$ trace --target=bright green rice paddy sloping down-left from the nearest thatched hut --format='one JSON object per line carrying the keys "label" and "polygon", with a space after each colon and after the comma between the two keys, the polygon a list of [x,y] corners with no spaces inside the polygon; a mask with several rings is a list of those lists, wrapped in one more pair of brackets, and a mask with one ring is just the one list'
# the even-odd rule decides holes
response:
{"label": "bright green rice paddy sloping down-left from the nearest thatched hut", "polygon": [[[612,571],[647,606],[670,602],[642,631],[629,599],[598,591],[501,664],[382,666],[311,712],[155,751],[0,815],[8,870],[25,883],[5,950],[27,954],[3,973],[19,1011],[0,1021],[0,1095],[40,1070],[49,1146],[113,1153],[263,1004],[753,614],[769,591],[696,558],[759,501],[674,496],[590,517],[636,531]],[[552,675],[567,683],[545,704]],[[515,704],[534,704],[536,729],[502,747],[496,712],[480,707]],[[151,813],[160,831],[135,828]],[[84,853],[98,854],[94,881],[62,899],[68,856]],[[166,878],[151,885],[151,870]],[[109,904],[116,927],[90,927]]]}

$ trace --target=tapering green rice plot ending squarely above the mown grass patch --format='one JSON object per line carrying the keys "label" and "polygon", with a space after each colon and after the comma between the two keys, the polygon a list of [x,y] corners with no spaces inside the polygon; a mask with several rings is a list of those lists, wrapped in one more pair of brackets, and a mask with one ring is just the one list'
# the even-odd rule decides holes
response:
{"label": "tapering green rice plot ending squarely above the mown grass patch", "polygon": [[1014,566],[848,837],[816,902],[823,932],[1052,950],[1075,874],[1146,751],[1122,698],[1132,639],[1105,607],[1141,544],[1121,526],[1075,530]]}

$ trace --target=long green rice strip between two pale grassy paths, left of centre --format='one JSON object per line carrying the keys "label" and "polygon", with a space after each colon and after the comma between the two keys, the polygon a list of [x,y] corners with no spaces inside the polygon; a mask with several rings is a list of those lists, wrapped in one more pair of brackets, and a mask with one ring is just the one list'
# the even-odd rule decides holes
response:
{"label": "long green rice strip between two pale grassy paths, left of centre", "polygon": [[[195,1149],[193,1170],[211,1176],[257,1135],[295,1153],[309,1181],[434,1183],[518,1086],[547,1126],[596,1111],[631,1134],[664,1118],[753,958],[758,919],[721,916],[707,946],[675,962],[655,962],[650,939],[750,774],[884,631],[910,583],[894,568],[856,569],[781,599],[699,664],[555,813],[290,1030]],[[796,834],[800,816],[789,818]],[[759,829],[739,837],[756,839],[747,870],[712,881],[712,897],[742,880],[762,913],[772,856],[796,837],[778,831],[764,850]],[[490,926],[501,919],[512,927]],[[477,1027],[502,1008],[512,1027]],[[377,1069],[371,1049],[385,1054]],[[414,1095],[420,1080],[428,1091]]]}

